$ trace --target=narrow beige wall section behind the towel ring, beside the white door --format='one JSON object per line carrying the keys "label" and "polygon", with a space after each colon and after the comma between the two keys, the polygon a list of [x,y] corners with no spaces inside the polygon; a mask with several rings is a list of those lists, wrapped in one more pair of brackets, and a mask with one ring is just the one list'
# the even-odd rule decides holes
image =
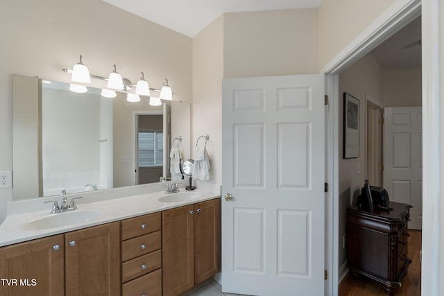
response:
{"label": "narrow beige wall section behind the towel ring, beside the white door", "polygon": [[[203,134],[210,135],[210,182],[222,184],[222,78],[223,16],[193,39],[193,104],[191,147]],[[194,151],[192,151],[194,153]]]}

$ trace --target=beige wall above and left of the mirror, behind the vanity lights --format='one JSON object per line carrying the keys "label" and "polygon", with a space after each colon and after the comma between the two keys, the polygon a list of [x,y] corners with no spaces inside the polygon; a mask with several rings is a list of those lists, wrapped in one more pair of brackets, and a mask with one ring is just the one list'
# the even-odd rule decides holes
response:
{"label": "beige wall above and left of the mirror, behind the vanity lights", "polygon": [[[191,38],[99,0],[0,1],[0,171],[12,171],[12,73],[68,82],[78,55],[91,73],[112,64],[151,87],[168,78],[175,99],[191,101]],[[12,189],[0,189],[0,220]]]}

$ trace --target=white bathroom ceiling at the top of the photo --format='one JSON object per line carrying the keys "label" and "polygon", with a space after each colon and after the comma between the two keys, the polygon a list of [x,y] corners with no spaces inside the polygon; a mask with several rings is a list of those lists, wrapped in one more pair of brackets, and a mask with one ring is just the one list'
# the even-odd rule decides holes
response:
{"label": "white bathroom ceiling at the top of the photo", "polygon": [[316,8],[322,0],[103,0],[139,17],[195,37],[224,12]]}

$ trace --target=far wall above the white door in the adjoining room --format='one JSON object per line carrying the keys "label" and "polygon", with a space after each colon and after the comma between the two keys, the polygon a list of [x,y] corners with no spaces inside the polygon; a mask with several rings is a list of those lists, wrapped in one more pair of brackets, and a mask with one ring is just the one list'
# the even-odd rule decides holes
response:
{"label": "far wall above the white door in the adjoining room", "polygon": [[421,69],[382,71],[384,107],[416,107],[422,105]]}

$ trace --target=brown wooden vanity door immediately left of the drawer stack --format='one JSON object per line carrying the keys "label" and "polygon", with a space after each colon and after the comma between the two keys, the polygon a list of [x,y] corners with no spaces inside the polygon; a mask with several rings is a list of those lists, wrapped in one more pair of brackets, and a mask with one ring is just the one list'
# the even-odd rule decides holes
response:
{"label": "brown wooden vanity door immediately left of the drawer stack", "polygon": [[65,234],[66,296],[121,293],[120,222]]}

